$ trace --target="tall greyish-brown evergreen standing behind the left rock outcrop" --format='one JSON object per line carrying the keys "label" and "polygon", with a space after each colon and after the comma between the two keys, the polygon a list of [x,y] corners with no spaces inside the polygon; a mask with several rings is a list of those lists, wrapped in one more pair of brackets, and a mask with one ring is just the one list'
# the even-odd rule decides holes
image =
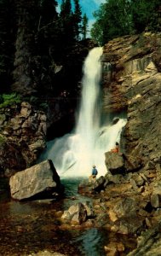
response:
{"label": "tall greyish-brown evergreen standing behind the left rock outcrop", "polygon": [[32,49],[34,48],[34,34],[37,22],[36,0],[15,0],[17,35],[14,56],[14,91],[22,95],[31,95],[36,91],[33,81]]}

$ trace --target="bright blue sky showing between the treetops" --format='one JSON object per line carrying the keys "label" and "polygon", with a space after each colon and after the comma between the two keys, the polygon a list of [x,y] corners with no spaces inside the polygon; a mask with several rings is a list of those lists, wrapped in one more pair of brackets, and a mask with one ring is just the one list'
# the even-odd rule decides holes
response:
{"label": "bright blue sky showing between the treetops", "polygon": [[[93,17],[93,13],[95,10],[99,9],[101,3],[105,3],[106,0],[79,0],[79,4],[81,6],[82,14],[86,14],[89,19],[89,30],[92,24],[95,22],[95,18]],[[57,3],[61,3],[61,0],[57,0]],[[71,1],[72,3],[72,1]]]}

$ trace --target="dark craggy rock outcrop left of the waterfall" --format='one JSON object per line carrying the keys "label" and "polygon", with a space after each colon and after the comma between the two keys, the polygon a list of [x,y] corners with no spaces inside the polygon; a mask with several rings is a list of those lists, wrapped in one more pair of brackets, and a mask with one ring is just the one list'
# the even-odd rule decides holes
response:
{"label": "dark craggy rock outcrop left of the waterfall", "polygon": [[6,176],[32,166],[46,147],[46,115],[28,102],[0,109],[0,168]]}

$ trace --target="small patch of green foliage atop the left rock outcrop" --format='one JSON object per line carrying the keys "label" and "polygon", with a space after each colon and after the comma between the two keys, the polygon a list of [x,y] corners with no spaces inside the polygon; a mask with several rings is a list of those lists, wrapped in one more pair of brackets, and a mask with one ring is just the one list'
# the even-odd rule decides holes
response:
{"label": "small patch of green foliage atop the left rock outcrop", "polygon": [[0,96],[0,108],[5,108],[13,104],[20,103],[20,95],[15,93],[12,94],[3,94]]}

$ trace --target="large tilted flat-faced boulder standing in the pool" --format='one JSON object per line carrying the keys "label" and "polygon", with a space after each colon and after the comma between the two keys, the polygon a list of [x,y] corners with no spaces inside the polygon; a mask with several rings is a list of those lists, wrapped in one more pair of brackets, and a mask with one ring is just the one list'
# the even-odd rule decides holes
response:
{"label": "large tilted flat-faced boulder standing in the pool", "polygon": [[60,177],[51,160],[45,160],[24,171],[17,172],[9,180],[14,200],[54,198],[60,191]]}

